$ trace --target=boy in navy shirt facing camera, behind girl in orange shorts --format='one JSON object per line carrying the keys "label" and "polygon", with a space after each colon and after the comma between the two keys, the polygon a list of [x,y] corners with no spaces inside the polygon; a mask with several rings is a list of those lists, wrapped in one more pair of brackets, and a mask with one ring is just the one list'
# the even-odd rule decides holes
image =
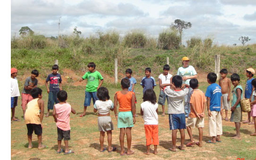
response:
{"label": "boy in navy shirt facing camera, behind girl in orange shorts", "polygon": [[143,94],[147,89],[154,89],[154,86],[156,86],[154,77],[151,76],[151,68],[146,67],[145,68],[145,77],[142,78],[140,85],[142,85],[143,88]]}

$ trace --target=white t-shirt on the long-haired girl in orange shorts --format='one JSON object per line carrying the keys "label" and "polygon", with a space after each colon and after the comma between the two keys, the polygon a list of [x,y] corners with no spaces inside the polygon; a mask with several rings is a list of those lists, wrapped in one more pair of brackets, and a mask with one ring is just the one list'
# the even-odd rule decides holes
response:
{"label": "white t-shirt on the long-haired girl in orange shorts", "polygon": [[144,125],[158,125],[158,115],[156,113],[158,104],[145,101],[140,106],[143,111]]}

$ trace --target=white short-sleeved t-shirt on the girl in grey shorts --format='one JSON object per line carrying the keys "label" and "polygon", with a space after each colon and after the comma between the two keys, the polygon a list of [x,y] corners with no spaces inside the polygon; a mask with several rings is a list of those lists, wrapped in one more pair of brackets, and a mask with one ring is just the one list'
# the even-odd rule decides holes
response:
{"label": "white short-sleeved t-shirt on the girl in grey shorts", "polygon": [[114,104],[111,100],[100,101],[97,100],[94,103],[94,109],[98,109],[100,114],[108,114],[110,109],[114,108]]}

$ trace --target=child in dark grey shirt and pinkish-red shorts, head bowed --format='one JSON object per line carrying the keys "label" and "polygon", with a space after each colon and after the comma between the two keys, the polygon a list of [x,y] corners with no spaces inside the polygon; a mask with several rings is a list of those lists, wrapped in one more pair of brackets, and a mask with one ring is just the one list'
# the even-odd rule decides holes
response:
{"label": "child in dark grey shirt and pinkish-red shorts, head bowed", "polygon": [[33,100],[33,97],[30,94],[30,91],[37,87],[37,79],[35,77],[38,77],[39,73],[38,70],[34,69],[31,72],[31,76],[26,78],[25,84],[24,84],[24,88],[22,91],[22,103],[21,103],[21,107],[23,110],[23,116],[25,117],[25,111],[26,111],[26,104],[29,101]]}

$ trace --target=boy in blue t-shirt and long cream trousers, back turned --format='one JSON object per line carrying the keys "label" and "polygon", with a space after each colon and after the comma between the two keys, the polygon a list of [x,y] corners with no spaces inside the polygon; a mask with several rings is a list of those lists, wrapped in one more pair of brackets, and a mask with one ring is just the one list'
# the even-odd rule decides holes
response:
{"label": "boy in blue t-shirt and long cream trousers, back turned", "polygon": [[211,85],[207,87],[205,97],[207,97],[209,135],[212,136],[207,143],[220,142],[222,135],[222,88],[215,83],[216,79],[217,75],[213,72],[207,75],[207,82]]}

